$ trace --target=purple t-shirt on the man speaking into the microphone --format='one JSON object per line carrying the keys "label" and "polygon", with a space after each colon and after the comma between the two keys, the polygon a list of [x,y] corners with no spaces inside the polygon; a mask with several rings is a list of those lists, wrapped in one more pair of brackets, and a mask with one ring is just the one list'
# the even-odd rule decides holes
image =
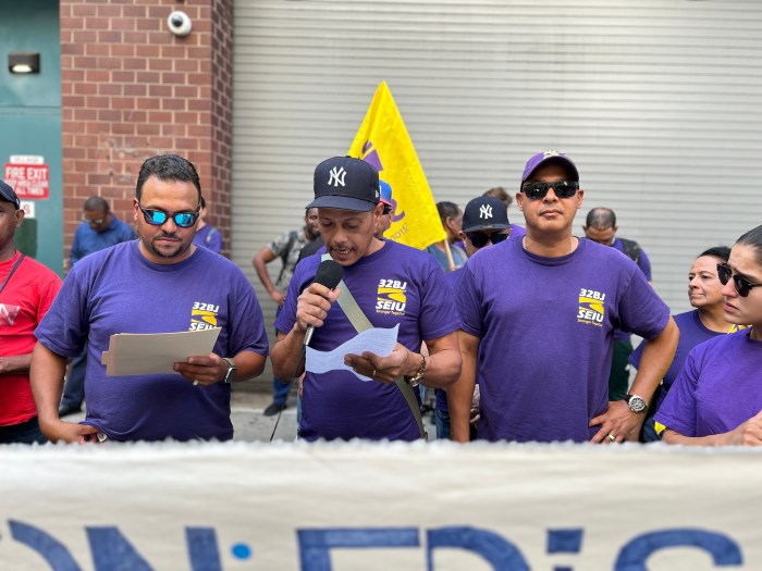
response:
{"label": "purple t-shirt on the man speaking into the microphone", "polygon": [[[320,257],[296,266],[275,328],[287,333],[296,322],[296,302],[315,281]],[[344,283],[374,327],[400,324],[397,340],[419,352],[423,339],[437,339],[457,331],[453,296],[444,273],[425,251],[385,240],[383,247],[344,268]],[[356,336],[339,303],[333,303],[322,327],[316,328],[310,347],[335,349]],[[349,371],[307,373],[302,397],[299,437],[325,439],[404,439],[420,437],[418,424],[394,384],[362,382]]]}

